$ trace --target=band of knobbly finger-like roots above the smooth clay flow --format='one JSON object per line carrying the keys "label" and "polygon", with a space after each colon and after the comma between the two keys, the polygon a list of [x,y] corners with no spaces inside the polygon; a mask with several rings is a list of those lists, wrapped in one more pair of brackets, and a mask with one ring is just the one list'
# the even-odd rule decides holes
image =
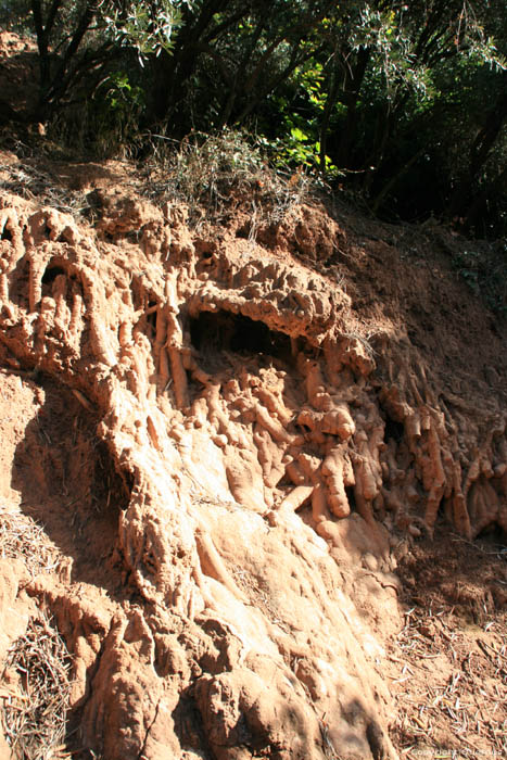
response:
{"label": "band of knobbly finger-like roots above the smooth clay flow", "polygon": [[[88,328],[89,355],[98,366],[107,367],[112,376],[118,373],[117,368],[125,371],[129,367],[128,387],[136,396],[141,397],[145,388],[145,397],[159,398],[164,414],[166,402],[162,397],[172,396],[187,427],[210,426],[211,436],[228,458],[224,468],[235,483],[237,498],[244,493],[239,482],[241,468],[250,467],[255,459],[262,470],[266,508],[284,502],[290,481],[296,486],[313,484],[316,520],[328,514],[342,519],[356,509],[371,527],[376,518],[393,514],[398,524],[422,518],[432,530],[442,507],[466,535],[474,535],[495,522],[505,524],[505,418],[497,419],[494,436],[476,440],[477,453],[472,453],[470,447],[464,448],[464,430],[459,429],[460,425],[470,426],[470,421],[449,419],[414,351],[404,358],[404,375],[398,371],[396,380],[394,362],[386,356],[384,380],[379,383],[372,356],[365,353],[356,337],[351,333],[347,338],[344,330],[340,331],[340,320],[332,316],[333,309],[339,313],[344,307],[346,296],[337,295],[326,280],[318,289],[306,291],[302,267],[289,270],[272,262],[267,269],[259,268],[252,252],[238,261],[215,254],[203,282],[195,279],[199,262],[191,249],[181,252],[181,261],[176,254],[173,262],[157,261],[151,251],[151,264],[147,263],[147,270],[153,269],[150,292],[141,291],[144,306],[132,308],[134,293],[125,286],[115,314],[109,305],[110,293],[92,268],[99,261],[97,251],[89,240],[79,252],[76,250],[83,238],[69,218],[53,211],[26,217],[5,210],[2,214],[2,225],[9,229],[5,237],[10,238],[2,241],[0,283],[8,318],[7,345],[13,351],[20,345],[18,338],[9,337],[15,330],[20,332],[14,327],[17,324],[27,360],[40,365],[41,357],[47,356],[48,365],[58,365],[66,352],[68,365],[69,360],[78,360],[76,351]],[[24,239],[20,233],[23,225],[27,230]],[[50,245],[58,249],[59,261],[67,264],[54,277],[51,296],[47,296],[42,280],[53,255]],[[20,269],[14,271],[13,267],[23,255],[29,259],[26,312],[10,299]],[[101,266],[105,276],[110,264]],[[155,271],[162,270],[161,288],[155,284]],[[295,312],[291,303],[297,304]],[[217,340],[225,343],[217,345],[215,353],[224,352],[229,372],[215,382],[201,366],[201,350],[205,346],[193,346],[187,329],[189,315],[195,319],[202,312],[208,314],[208,320],[213,320],[214,313],[230,315],[228,329],[232,330],[233,315],[242,315],[252,324],[262,321],[277,335],[290,338],[290,353],[283,358],[272,356],[272,370],[263,369],[264,375],[258,363],[257,369],[242,366],[237,372],[241,363],[235,358],[231,338],[220,338],[218,330]],[[34,314],[37,319],[28,318]],[[156,317],[154,335],[149,329],[150,315]],[[131,350],[132,344],[141,346],[141,338],[155,367],[155,372],[145,378]],[[270,351],[269,339],[262,340]],[[281,345],[276,337],[270,344]],[[68,358],[69,350],[74,359]],[[59,351],[63,352],[61,356]],[[381,369],[383,363],[379,356]],[[299,378],[297,387],[290,388],[286,382],[288,371]],[[241,378],[237,388],[235,373]],[[144,419],[150,420],[151,440],[162,451],[163,432],[155,430],[153,415]],[[400,426],[401,438],[394,445],[388,445],[390,420]],[[226,442],[232,447],[227,455]],[[235,449],[237,465],[231,464]],[[308,452],[318,460],[313,473],[301,470],[301,456]],[[256,509],[262,511],[255,501]]]}

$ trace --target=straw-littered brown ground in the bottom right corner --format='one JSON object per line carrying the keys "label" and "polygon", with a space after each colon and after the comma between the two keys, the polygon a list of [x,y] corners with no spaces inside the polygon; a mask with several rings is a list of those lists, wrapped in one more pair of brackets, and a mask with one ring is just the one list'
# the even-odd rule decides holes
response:
{"label": "straw-littered brown ground in the bottom right corner", "polygon": [[[447,536],[423,560],[388,657],[393,738],[407,760],[507,757],[506,616],[489,592],[502,583],[503,548]],[[448,586],[441,573],[451,573]]]}

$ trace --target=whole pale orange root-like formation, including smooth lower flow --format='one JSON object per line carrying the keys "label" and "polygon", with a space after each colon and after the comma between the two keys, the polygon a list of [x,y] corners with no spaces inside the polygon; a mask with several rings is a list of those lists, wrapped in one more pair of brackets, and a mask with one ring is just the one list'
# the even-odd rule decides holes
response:
{"label": "whole pale orange root-like formation, including smooth lower flow", "polygon": [[195,243],[177,208],[109,202],[96,237],[11,201],[4,362],[97,413],[129,490],[116,558],[142,605],[98,616],[33,585],[73,631],[84,740],[110,760],[394,757],[347,588],[368,575],[396,618],[393,523],[431,533],[442,508],[466,536],[507,531],[506,416],[473,427],[408,340],[373,356],[347,334],[335,284]]}

